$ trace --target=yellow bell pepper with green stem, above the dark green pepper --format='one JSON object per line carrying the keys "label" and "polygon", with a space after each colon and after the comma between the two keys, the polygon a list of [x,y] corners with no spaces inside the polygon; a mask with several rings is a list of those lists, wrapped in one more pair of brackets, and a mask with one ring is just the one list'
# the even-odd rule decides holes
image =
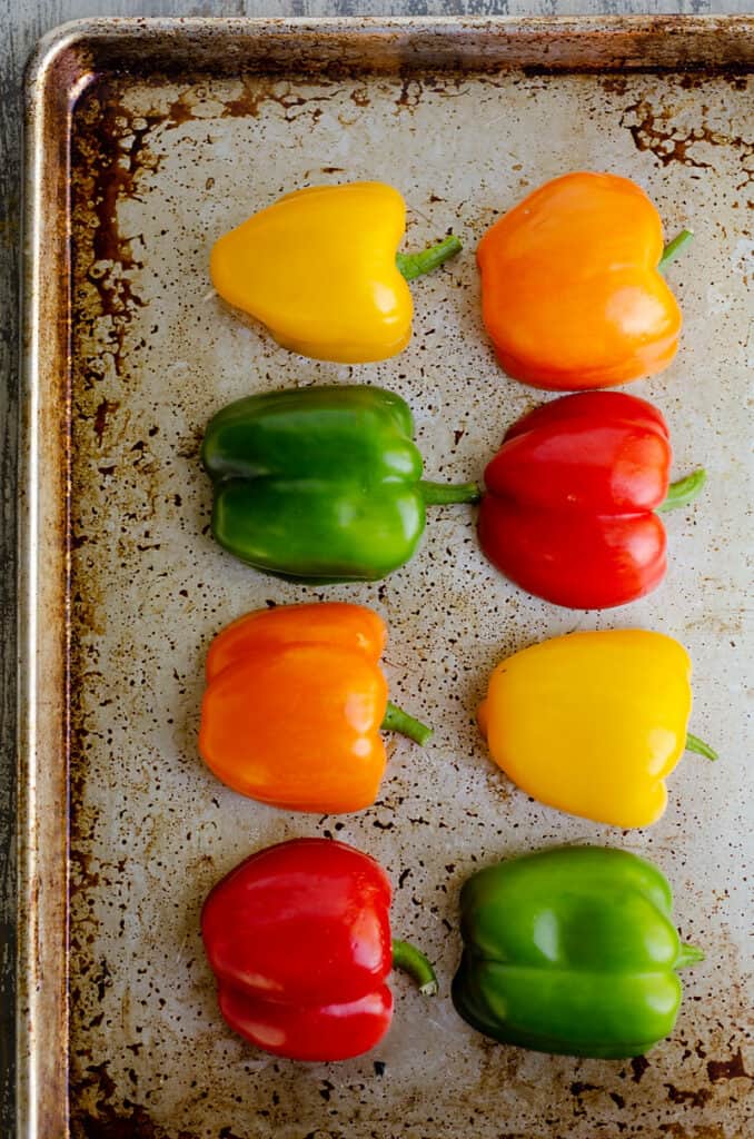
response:
{"label": "yellow bell pepper with green stem, above the dark green pepper", "polygon": [[451,236],[399,254],[404,230],[405,203],[392,186],[297,190],[215,243],[212,284],[292,352],[338,363],[385,360],[411,337],[407,280],[461,247]]}

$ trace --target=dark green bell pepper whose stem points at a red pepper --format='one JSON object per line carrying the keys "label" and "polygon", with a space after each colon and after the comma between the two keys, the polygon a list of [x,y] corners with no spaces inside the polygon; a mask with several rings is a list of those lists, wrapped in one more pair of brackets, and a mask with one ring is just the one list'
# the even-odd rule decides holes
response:
{"label": "dark green bell pepper whose stem points at a red pepper", "polygon": [[408,562],[431,502],[473,502],[476,483],[421,480],[408,404],[378,387],[252,395],[211,420],[202,461],[212,533],[257,570],[298,581],[376,581]]}

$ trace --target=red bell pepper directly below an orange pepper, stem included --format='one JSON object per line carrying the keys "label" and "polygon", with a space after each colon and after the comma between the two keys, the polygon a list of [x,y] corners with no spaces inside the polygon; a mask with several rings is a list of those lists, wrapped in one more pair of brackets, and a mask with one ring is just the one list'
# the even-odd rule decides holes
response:
{"label": "red bell pepper directly below an orange pepper, stem included", "polygon": [[669,487],[667,425],[622,392],[567,395],[507,433],[484,472],[482,549],[536,597],[575,609],[634,601],[662,581],[665,530],[657,510],[690,502],[696,470]]}

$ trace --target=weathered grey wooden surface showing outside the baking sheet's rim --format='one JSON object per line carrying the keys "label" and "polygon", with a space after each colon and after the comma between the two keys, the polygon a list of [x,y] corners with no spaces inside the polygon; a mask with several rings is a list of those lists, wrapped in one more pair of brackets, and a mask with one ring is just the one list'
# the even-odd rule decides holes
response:
{"label": "weathered grey wooden surface showing outside the baking sheet's rim", "polygon": [[0,1134],[14,1131],[16,507],[22,72],[39,36],[83,16],[733,14],[751,0],[0,0]]}

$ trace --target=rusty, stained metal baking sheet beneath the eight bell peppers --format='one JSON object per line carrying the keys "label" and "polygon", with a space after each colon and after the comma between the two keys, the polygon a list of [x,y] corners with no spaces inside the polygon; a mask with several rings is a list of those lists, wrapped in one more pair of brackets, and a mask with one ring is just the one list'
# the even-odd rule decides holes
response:
{"label": "rusty, stained metal baking sheet beneath the eight bell peppers", "polygon": [[[43,41],[27,83],[23,473],[19,1136],[544,1139],[751,1134],[746,1068],[751,764],[745,747],[745,466],[754,150],[746,18],[93,21]],[[497,368],[474,247],[567,170],[647,188],[696,231],[672,279],[682,350],[632,387],[708,492],[669,519],[671,570],[604,614],[497,576],[472,513],[434,511],[419,556],[376,585],[317,592],[212,543],[197,452],[210,416],[269,386],[383,384],[412,405],[429,477],[478,477],[538,399]],[[413,247],[465,253],[415,287],[410,346],[317,363],[228,312],[215,238],[295,187],[388,180]],[[233,795],[199,761],[203,656],[232,617],[314,597],[374,605],[387,669],[435,726],[393,745],[379,802],[312,818]],[[503,654],[575,628],[642,625],[695,661],[694,729],[663,820],[620,833],[547,810],[490,763],[473,713]],[[337,835],[395,884],[394,927],[439,966],[431,1005],[396,978],[374,1055],[297,1065],[232,1036],[198,936],[210,886],[294,835]],[[458,891],[480,865],[555,842],[650,855],[686,937],[672,1038],[606,1063],[495,1046],[453,1013]]]}

